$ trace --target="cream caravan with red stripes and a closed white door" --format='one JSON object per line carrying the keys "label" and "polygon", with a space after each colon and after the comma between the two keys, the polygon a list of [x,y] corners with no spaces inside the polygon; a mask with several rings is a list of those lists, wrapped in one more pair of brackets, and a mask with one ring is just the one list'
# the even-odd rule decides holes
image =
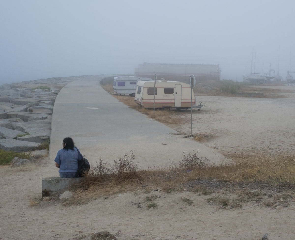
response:
{"label": "cream caravan with red stripes and a closed white door", "polygon": [[161,80],[155,85],[154,81],[138,81],[135,102],[145,108],[188,109],[191,104],[195,106],[196,97],[188,83]]}

